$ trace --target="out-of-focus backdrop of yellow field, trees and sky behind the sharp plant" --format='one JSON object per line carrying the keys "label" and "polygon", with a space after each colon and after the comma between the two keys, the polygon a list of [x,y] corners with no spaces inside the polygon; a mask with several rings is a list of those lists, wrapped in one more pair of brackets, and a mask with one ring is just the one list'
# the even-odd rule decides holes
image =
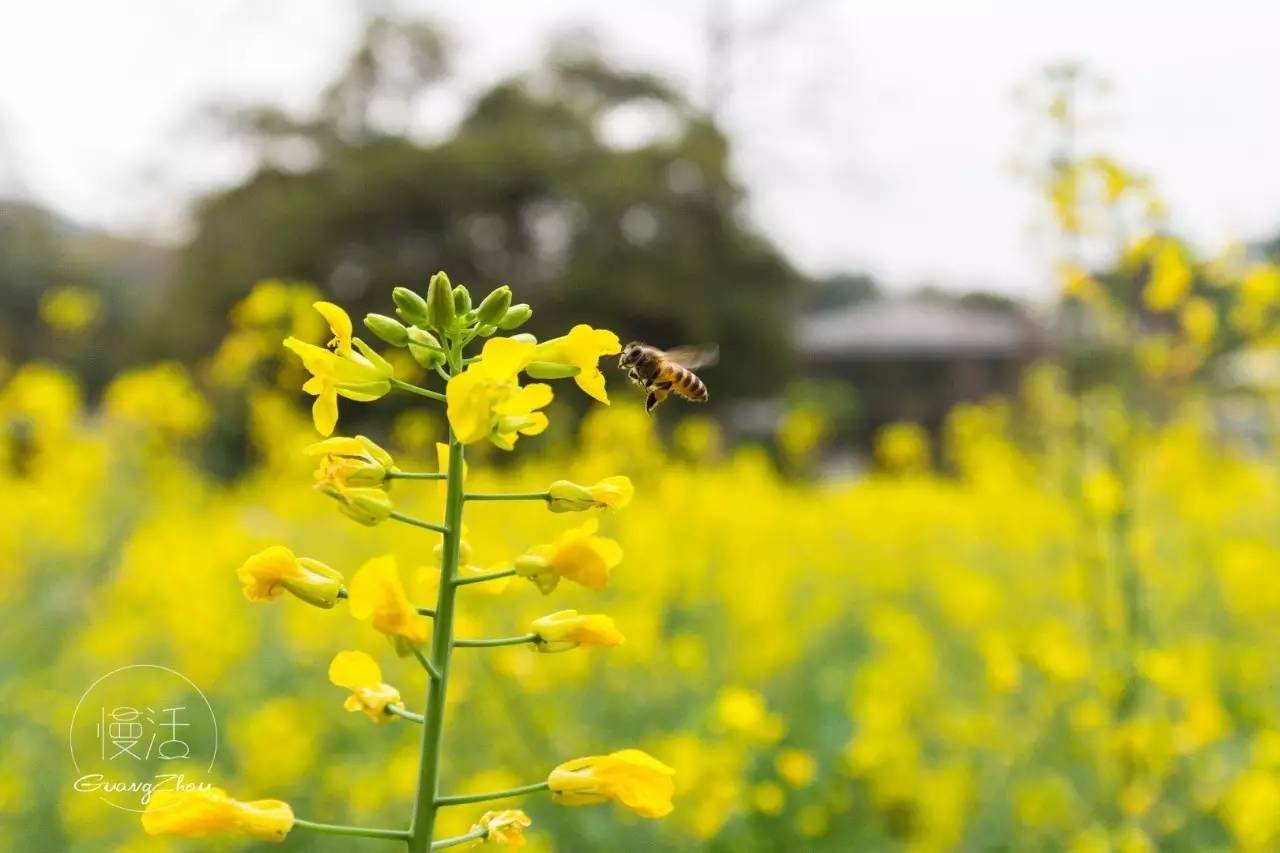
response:
{"label": "out-of-focus backdrop of yellow field, trees and sky behind the sharp plant", "polygon": [[[417,738],[340,710],[288,544],[430,542],[310,489],[310,305],[448,270],[530,330],[717,342],[712,402],[563,393],[481,491],[625,473],[602,654],[460,652],[445,784],[637,745],[663,822],[531,800],[534,849],[1276,849],[1280,159],[1265,8],[131,4],[0,12],[0,847],[147,839],[70,790],[100,675],[209,694],[219,781],[398,825]],[[397,355],[402,351],[397,352]],[[407,359],[398,375],[419,379]],[[424,379],[425,380],[425,379]],[[439,411],[339,429],[431,470]],[[434,485],[396,488],[424,517]],[[477,506],[480,564],[566,526]],[[483,807],[457,808],[465,830]],[[296,833],[283,849],[380,849]]]}

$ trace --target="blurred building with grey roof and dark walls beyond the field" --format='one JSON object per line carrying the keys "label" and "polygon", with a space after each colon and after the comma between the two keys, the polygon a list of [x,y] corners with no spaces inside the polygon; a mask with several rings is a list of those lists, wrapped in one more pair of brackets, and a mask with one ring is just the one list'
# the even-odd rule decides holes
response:
{"label": "blurred building with grey roof and dark walls beyond the field", "polygon": [[896,420],[931,430],[957,402],[1012,393],[1050,333],[1020,309],[933,298],[872,298],[804,320],[804,371],[851,386],[860,435]]}

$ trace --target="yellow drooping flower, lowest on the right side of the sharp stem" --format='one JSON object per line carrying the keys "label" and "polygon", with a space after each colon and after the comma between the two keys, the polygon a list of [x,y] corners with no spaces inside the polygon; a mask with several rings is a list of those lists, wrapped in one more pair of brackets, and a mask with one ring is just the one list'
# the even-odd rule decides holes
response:
{"label": "yellow drooping flower, lowest on the right side of the sharp stem", "polygon": [[547,777],[552,799],[561,806],[594,806],[613,800],[640,817],[671,813],[676,771],[639,749],[566,761]]}

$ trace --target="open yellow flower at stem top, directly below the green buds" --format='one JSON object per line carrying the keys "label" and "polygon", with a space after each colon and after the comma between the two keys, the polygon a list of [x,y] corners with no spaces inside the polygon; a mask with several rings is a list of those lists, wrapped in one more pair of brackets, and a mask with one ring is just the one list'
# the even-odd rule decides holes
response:
{"label": "open yellow flower at stem top, directly below the green buds", "polygon": [[534,350],[531,341],[490,338],[480,360],[449,379],[444,396],[449,425],[460,442],[474,444],[488,438],[502,450],[512,450],[521,435],[547,429],[547,415],[538,410],[550,403],[550,386],[521,388],[517,382]]}

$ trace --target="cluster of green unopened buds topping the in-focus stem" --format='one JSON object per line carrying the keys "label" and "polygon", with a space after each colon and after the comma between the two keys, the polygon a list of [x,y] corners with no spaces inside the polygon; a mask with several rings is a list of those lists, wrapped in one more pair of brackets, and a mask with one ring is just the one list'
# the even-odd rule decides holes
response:
{"label": "cluster of green unopened buds topping the in-focus stem", "polygon": [[498,329],[511,332],[534,315],[529,305],[511,304],[511,288],[506,284],[474,306],[466,284],[454,287],[444,273],[431,277],[425,297],[407,287],[397,287],[392,300],[399,319],[369,314],[365,328],[393,347],[408,348],[413,360],[429,370],[447,359],[442,339],[486,338]]}

